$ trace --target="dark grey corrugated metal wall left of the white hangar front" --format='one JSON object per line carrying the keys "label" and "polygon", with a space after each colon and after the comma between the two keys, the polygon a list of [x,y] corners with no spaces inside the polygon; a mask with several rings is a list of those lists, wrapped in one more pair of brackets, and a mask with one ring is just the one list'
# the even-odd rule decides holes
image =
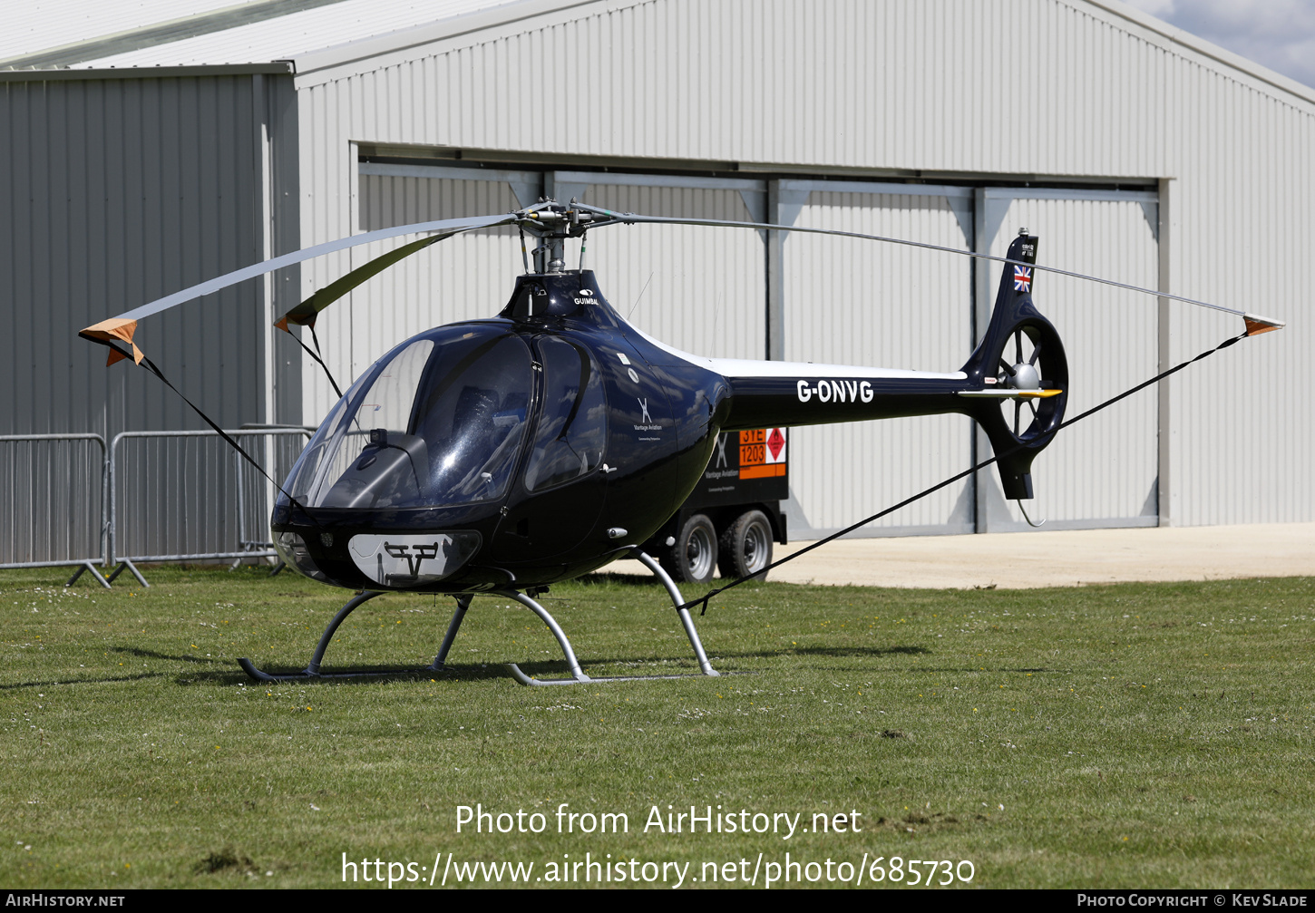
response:
{"label": "dark grey corrugated metal wall left of the white hangar front", "polygon": [[[200,426],[78,330],[262,259],[250,76],[0,83],[0,433]],[[264,418],[254,283],[135,341],[209,414]]]}

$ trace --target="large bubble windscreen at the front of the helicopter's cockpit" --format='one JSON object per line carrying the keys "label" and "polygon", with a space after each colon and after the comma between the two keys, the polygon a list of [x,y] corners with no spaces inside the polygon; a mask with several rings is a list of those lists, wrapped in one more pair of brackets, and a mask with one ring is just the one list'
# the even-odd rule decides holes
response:
{"label": "large bubble windscreen at the front of the helicopter's cockpit", "polygon": [[293,467],[306,506],[448,506],[501,497],[525,437],[530,351],[492,326],[398,346],[330,413]]}

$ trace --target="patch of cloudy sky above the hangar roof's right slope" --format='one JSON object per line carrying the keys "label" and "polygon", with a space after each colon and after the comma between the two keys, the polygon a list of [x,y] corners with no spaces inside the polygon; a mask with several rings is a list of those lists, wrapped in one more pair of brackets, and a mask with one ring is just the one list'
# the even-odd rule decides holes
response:
{"label": "patch of cloudy sky above the hangar roof's right slope", "polygon": [[1124,0],[1184,32],[1315,86],[1315,0]]}

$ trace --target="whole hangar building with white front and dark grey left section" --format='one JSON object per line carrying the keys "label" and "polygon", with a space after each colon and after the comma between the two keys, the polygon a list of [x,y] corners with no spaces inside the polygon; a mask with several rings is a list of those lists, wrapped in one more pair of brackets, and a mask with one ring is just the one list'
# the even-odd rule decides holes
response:
{"label": "whole hangar building with white front and dark grey left section", "polygon": [[[579,196],[997,255],[1027,226],[1040,263],[1285,318],[1063,434],[1034,468],[1036,512],[1052,529],[1315,520],[1315,89],[1115,0],[55,0],[16,17],[0,434],[199,428],[76,330],[342,235]],[[387,246],[138,341],[227,428],[313,425],[333,392],[272,320]],[[589,259],[633,322],[688,351],[928,370],[965,360],[998,279],[935,251],[698,226],[600,232]],[[489,316],[518,271],[509,229],[437,245],[326,312],[326,360],[351,379],[413,333]],[[1240,329],[1061,276],[1036,300],[1069,350],[1070,414]],[[794,538],[989,454],[956,416],[798,429],[790,447]],[[139,489],[172,471],[141,470]],[[864,531],[1019,529],[984,472]]]}

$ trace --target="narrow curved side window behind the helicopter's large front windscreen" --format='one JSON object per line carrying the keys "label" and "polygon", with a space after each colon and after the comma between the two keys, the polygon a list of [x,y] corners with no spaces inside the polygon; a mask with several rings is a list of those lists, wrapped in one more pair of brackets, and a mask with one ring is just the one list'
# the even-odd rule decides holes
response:
{"label": "narrow curved side window behind the helicopter's large front windscreen", "polygon": [[525,470],[530,491],[569,481],[602,464],[608,404],[588,351],[555,337],[538,339],[543,410]]}

